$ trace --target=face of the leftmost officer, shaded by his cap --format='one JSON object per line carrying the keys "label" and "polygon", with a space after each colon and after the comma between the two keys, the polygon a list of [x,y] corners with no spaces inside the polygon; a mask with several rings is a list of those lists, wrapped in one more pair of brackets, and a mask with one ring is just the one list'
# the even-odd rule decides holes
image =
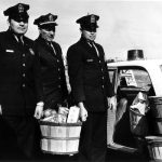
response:
{"label": "face of the leftmost officer, shaded by his cap", "polygon": [[14,19],[10,19],[9,24],[13,32],[17,35],[25,35],[28,30],[28,22],[16,22]]}

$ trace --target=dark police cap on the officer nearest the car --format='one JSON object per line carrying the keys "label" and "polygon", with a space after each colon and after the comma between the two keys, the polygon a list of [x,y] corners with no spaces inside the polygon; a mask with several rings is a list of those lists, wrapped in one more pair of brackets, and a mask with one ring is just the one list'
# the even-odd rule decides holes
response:
{"label": "dark police cap on the officer nearest the car", "polygon": [[80,24],[81,29],[96,31],[96,28],[98,28],[97,25],[98,19],[99,19],[98,15],[91,14],[77,19],[76,23]]}

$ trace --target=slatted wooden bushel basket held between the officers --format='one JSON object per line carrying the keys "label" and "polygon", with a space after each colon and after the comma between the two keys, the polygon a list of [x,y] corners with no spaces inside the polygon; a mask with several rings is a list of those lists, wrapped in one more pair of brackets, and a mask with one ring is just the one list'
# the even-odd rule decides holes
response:
{"label": "slatted wooden bushel basket held between the officers", "polygon": [[52,154],[78,153],[81,122],[52,123],[40,121],[41,149]]}

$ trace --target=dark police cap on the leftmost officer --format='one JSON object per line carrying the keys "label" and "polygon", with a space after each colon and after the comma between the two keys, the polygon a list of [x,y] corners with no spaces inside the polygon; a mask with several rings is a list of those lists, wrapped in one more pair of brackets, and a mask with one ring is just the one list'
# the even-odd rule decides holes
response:
{"label": "dark police cap on the leftmost officer", "polygon": [[18,3],[6,9],[3,14],[4,16],[9,16],[9,18],[12,18],[16,22],[28,22],[29,15],[27,13],[27,10],[29,10],[28,4]]}

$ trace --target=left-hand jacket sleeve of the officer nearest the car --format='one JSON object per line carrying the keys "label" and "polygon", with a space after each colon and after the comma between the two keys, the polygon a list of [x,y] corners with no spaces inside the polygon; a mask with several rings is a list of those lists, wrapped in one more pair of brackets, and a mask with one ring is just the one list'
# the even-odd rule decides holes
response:
{"label": "left-hand jacket sleeve of the officer nearest the car", "polygon": [[67,52],[69,83],[76,103],[85,100],[83,89],[83,56],[81,50],[71,46]]}

